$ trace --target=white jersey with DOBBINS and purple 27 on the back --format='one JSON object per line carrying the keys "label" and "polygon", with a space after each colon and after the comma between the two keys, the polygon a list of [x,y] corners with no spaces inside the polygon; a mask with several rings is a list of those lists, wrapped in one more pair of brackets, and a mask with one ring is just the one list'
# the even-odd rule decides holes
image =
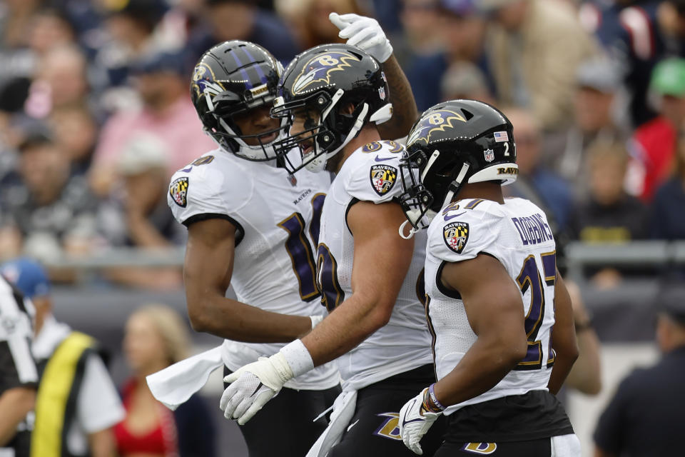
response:
{"label": "white jersey with DOBBINS and purple 27 on the back", "polygon": [[524,199],[505,199],[504,204],[464,199],[445,206],[428,228],[425,280],[437,378],[450,373],[477,338],[459,294],[440,283],[442,266],[479,253],[497,258],[521,291],[528,353],[496,386],[450,406],[446,414],[473,403],[547,389],[554,362],[550,336],[557,268],[547,216]]}

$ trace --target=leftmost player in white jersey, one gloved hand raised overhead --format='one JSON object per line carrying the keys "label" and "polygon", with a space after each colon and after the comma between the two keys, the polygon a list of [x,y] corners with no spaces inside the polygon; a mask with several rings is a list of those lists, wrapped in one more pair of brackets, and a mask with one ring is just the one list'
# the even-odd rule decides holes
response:
{"label": "leftmost player in white jersey, one gloved hand raised overhead", "polygon": [[[375,20],[337,14],[331,20],[343,38],[385,61],[397,94],[410,93]],[[226,338],[220,358],[229,372],[308,333],[327,313],[315,283],[315,248],[330,176],[291,175],[275,160],[273,141],[286,124],[269,115],[280,71],[268,51],[245,41],[227,41],[203,55],[191,97],[219,147],[178,171],[168,194],[174,216],[188,226],[184,280],[191,323]],[[384,138],[405,134],[415,119],[415,105],[401,98],[397,103],[407,108],[385,124]],[[225,298],[229,284],[237,300]],[[190,362],[189,371],[200,378],[210,366]],[[161,386],[148,379],[153,393],[172,407],[187,398],[176,391],[188,381],[188,370],[174,370],[156,376]],[[193,381],[193,388],[204,381]],[[290,380],[269,413],[241,426],[250,457],[273,456],[276,447],[279,456],[303,456],[326,426],[324,419],[313,419],[339,391],[340,376],[331,364]],[[162,394],[170,392],[173,401],[165,401]]]}

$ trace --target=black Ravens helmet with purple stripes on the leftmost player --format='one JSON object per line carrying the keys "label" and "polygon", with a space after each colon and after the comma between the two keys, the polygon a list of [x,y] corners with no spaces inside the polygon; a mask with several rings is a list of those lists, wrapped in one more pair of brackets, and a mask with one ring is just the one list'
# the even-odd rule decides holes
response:
{"label": "black Ravens helmet with purple stripes on the leftmost player", "polygon": [[[282,69],[269,51],[249,41],[224,41],[203,54],[193,71],[191,99],[205,131],[219,146],[243,159],[275,159],[273,141],[262,138],[283,134],[285,121],[276,129],[243,135],[234,119],[273,104]],[[259,145],[246,144],[248,138],[258,139]]]}

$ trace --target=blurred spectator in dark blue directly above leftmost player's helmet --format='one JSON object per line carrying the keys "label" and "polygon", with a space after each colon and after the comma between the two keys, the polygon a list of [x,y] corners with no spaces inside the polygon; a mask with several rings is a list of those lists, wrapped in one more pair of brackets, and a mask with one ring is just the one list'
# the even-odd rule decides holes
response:
{"label": "blurred spectator in dark blue directly above leftmost player's helmet", "polygon": [[215,44],[234,39],[264,46],[284,65],[299,51],[280,18],[258,8],[255,0],[205,0],[204,19],[208,26],[190,40],[193,63]]}

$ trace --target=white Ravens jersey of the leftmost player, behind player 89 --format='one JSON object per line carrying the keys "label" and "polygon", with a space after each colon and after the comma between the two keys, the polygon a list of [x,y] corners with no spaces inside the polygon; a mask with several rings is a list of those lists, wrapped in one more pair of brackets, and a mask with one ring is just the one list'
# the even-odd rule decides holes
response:
{"label": "white Ravens jersey of the leftmost player, behind player 89", "polygon": [[[303,170],[293,179],[274,162],[240,159],[223,149],[201,156],[171,178],[168,204],[176,220],[223,218],[236,227],[231,286],[238,300],[265,311],[324,316],[315,283],[314,249],[330,175]],[[285,343],[225,340],[223,361],[237,370]],[[324,389],[340,382],[334,363],[285,386]]]}

